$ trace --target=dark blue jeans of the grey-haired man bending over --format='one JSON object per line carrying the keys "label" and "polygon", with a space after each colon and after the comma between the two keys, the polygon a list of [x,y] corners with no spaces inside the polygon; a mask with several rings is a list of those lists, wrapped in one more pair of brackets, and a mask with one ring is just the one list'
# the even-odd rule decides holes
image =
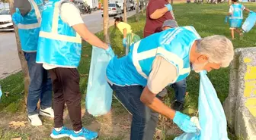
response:
{"label": "dark blue jeans of the grey-haired man bending over", "polygon": [[142,140],[144,129],[150,120],[150,110],[145,104],[140,101],[142,94],[142,86],[110,86],[116,92],[118,100],[133,114],[130,139]]}

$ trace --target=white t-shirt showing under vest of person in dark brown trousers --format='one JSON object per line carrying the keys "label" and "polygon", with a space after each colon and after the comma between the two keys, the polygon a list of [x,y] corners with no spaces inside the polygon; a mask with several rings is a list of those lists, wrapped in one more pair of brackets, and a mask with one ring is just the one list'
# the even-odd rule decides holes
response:
{"label": "white t-shirt showing under vest of person in dark brown trousers", "polygon": [[[84,23],[78,8],[75,5],[70,3],[62,4],[60,8],[60,17],[62,18],[63,22],[68,23],[69,26],[74,26],[79,23]],[[50,64],[43,64],[43,68],[46,70],[54,69],[56,66]]]}

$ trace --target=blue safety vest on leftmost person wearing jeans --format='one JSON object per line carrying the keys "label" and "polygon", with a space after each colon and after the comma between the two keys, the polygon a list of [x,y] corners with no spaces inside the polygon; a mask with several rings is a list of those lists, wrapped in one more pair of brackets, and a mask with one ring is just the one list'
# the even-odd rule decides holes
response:
{"label": "blue safety vest on leftmost person wearing jeans", "polygon": [[21,39],[21,49],[31,52],[37,51],[37,41],[41,24],[42,0],[28,0],[31,11],[24,16],[24,20],[18,24],[18,33]]}

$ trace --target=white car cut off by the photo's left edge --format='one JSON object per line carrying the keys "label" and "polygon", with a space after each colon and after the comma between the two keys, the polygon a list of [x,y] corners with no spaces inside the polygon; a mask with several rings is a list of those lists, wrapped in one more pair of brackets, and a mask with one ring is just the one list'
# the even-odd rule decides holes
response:
{"label": "white car cut off by the photo's left edge", "polygon": [[11,14],[9,8],[3,8],[0,10],[0,31],[13,31],[14,26],[11,20]]}

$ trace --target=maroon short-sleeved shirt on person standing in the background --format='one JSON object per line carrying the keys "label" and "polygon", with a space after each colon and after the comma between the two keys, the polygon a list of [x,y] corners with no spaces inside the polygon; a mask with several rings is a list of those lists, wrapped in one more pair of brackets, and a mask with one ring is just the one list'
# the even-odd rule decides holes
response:
{"label": "maroon short-sleeved shirt on person standing in the background", "polygon": [[171,12],[167,11],[162,17],[154,20],[150,18],[150,15],[153,14],[156,10],[165,8],[165,5],[168,5],[166,0],[150,0],[149,5],[146,9],[146,25],[144,28],[144,38],[150,36],[153,33],[157,33],[158,29],[162,27],[162,24],[165,20],[173,20]]}

